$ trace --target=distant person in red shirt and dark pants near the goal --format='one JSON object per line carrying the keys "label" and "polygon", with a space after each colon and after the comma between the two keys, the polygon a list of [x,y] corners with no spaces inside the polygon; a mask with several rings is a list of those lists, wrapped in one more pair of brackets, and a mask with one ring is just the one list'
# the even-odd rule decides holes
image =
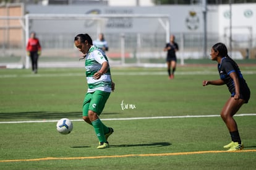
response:
{"label": "distant person in red shirt and dark pants near the goal", "polygon": [[30,38],[28,39],[27,43],[27,55],[30,56],[30,59],[32,61],[32,71],[36,74],[38,57],[41,54],[41,46],[38,38],[36,38],[35,35],[35,32],[32,32],[30,34]]}

